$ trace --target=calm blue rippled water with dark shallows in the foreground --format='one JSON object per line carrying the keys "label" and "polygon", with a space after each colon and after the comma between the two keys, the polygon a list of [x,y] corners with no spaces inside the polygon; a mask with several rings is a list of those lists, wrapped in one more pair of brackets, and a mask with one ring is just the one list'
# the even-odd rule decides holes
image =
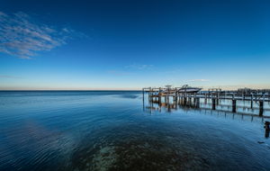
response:
{"label": "calm blue rippled water with dark shallows in the foreground", "polygon": [[267,119],[139,92],[0,92],[0,170],[270,170]]}

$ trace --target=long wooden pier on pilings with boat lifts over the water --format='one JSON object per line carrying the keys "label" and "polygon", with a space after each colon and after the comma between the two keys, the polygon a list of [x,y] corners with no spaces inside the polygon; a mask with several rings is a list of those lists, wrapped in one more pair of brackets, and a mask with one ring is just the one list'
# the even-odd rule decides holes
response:
{"label": "long wooden pier on pilings with boat lifts over the water", "polygon": [[254,90],[242,88],[222,91],[220,88],[211,88],[197,93],[183,92],[180,91],[181,89],[171,85],[142,88],[143,101],[145,101],[145,96],[147,96],[150,107],[154,108],[152,104],[157,103],[159,107],[166,106],[168,110],[175,109],[181,105],[184,107],[206,108],[233,113],[256,111],[257,113],[250,115],[259,117],[264,116],[265,112],[270,112],[270,109],[266,108],[266,104],[269,105],[270,103],[270,90],[268,89]]}

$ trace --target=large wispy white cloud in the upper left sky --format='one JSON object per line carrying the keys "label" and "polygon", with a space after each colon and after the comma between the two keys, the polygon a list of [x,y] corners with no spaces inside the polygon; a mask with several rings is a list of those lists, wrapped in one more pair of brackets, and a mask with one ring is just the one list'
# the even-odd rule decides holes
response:
{"label": "large wispy white cloud in the upper left sky", "polygon": [[36,23],[22,12],[11,15],[0,12],[0,52],[18,58],[31,58],[38,51],[64,45],[74,35],[80,36],[80,33]]}

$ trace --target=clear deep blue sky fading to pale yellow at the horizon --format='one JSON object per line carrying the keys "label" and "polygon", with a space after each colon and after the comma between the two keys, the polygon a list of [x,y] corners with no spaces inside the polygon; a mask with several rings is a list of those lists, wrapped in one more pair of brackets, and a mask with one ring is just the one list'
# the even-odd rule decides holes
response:
{"label": "clear deep blue sky fading to pale yellow at the horizon", "polygon": [[0,90],[270,88],[270,1],[0,0]]}

